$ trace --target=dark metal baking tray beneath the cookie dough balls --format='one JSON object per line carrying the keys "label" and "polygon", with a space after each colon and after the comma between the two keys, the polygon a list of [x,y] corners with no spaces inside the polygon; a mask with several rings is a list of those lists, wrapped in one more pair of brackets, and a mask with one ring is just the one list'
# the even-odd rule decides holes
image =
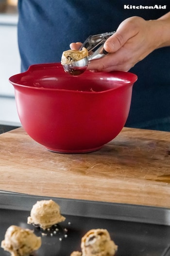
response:
{"label": "dark metal baking tray beneath the cookie dough balls", "polygon": [[[27,224],[37,200],[52,199],[66,220],[42,236],[40,229]],[[118,245],[116,256],[170,256],[170,209],[129,204],[37,197],[0,193],[0,241],[10,225],[33,229],[42,236],[35,256],[70,256],[81,251],[82,236],[90,229],[104,228]],[[0,248],[0,256],[9,256]]]}

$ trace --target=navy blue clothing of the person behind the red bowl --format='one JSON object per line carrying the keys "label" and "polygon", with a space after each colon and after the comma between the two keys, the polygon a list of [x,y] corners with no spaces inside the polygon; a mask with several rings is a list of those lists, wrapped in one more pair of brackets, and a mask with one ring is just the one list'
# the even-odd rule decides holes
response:
{"label": "navy blue clothing of the person behind the red bowl", "polygon": [[[158,8],[131,8],[155,4]],[[70,42],[114,31],[126,18],[158,19],[168,11],[169,0],[18,0],[21,71],[35,63],[60,62]],[[130,72],[138,80],[126,126],[170,131],[170,47],[155,50]]]}

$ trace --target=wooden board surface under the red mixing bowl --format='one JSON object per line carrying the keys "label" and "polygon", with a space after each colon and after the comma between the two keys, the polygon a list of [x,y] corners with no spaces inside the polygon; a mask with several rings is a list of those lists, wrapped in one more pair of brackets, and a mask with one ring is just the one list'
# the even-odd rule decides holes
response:
{"label": "wooden board surface under the red mixing bowl", "polygon": [[59,154],[17,128],[0,135],[0,190],[170,208],[170,133],[123,128],[99,151]]}

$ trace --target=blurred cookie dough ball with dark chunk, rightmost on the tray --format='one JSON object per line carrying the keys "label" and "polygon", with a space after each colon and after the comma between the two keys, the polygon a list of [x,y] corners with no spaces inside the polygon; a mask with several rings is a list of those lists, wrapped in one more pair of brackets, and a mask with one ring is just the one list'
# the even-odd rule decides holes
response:
{"label": "blurred cookie dough ball with dark chunk, rightmost on the tray", "polygon": [[82,254],[73,252],[71,256],[114,256],[118,246],[106,229],[91,229],[82,237],[81,249]]}

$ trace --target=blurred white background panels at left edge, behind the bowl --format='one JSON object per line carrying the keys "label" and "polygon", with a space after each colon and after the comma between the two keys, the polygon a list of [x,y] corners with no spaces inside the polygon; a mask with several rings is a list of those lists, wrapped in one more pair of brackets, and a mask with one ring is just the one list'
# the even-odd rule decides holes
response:
{"label": "blurred white background panels at left edge, behind the bowl", "polygon": [[0,14],[0,124],[20,125],[10,76],[20,73],[17,14]]}

